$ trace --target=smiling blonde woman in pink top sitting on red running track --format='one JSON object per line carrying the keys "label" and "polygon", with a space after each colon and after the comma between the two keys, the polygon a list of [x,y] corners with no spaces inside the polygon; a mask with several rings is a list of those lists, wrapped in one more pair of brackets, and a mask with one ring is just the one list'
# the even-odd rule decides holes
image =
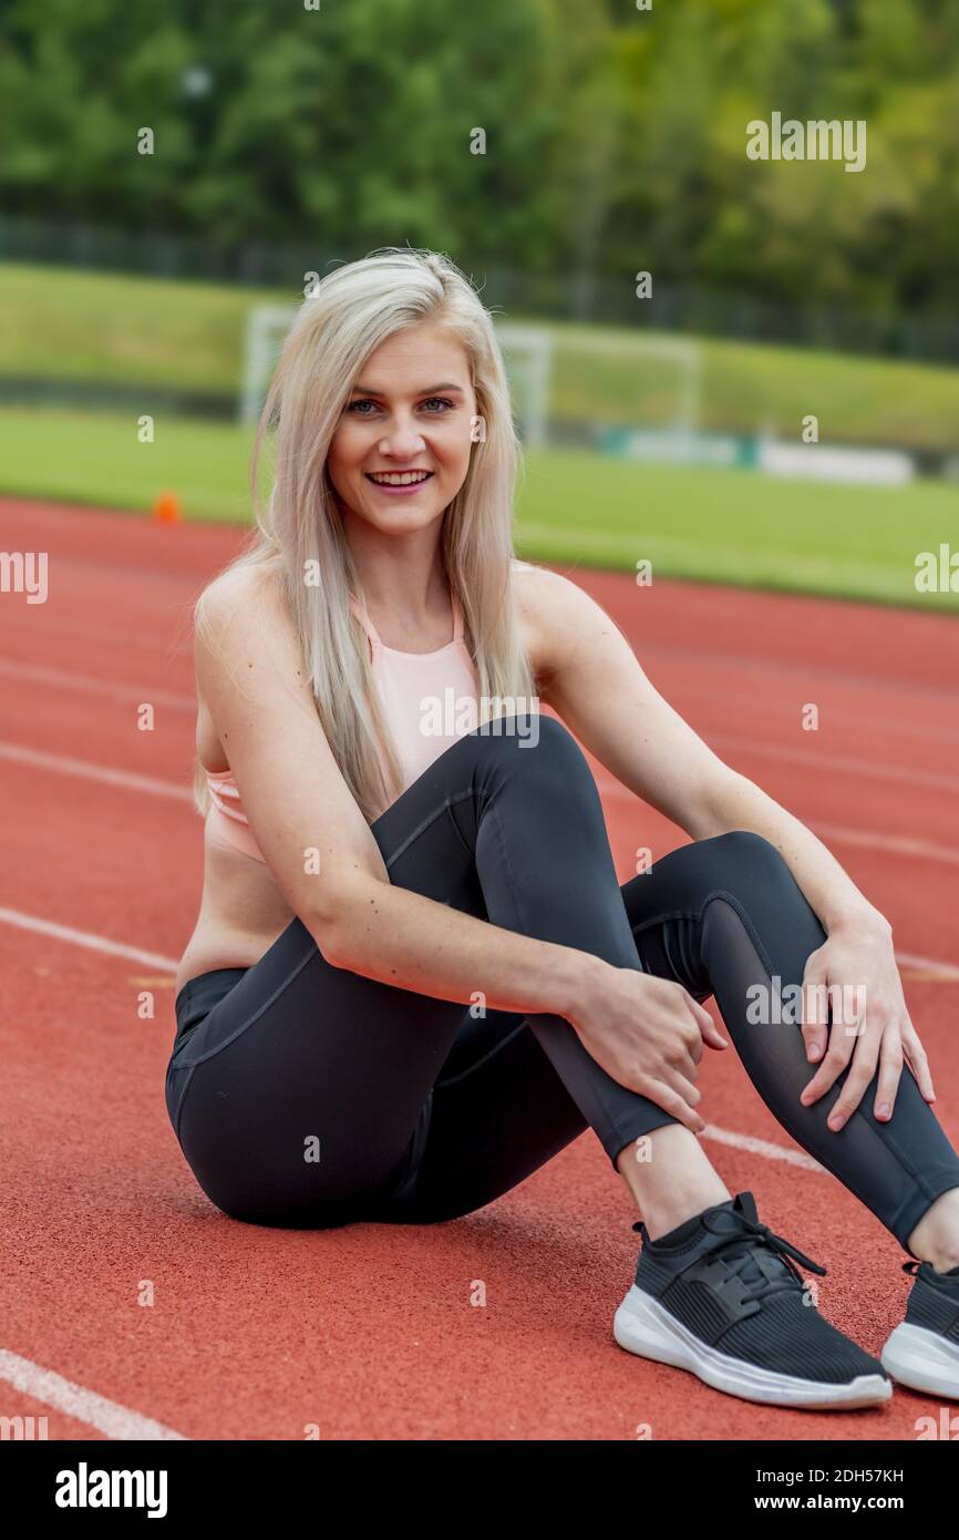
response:
{"label": "smiling blonde woman in pink top sitting on red running track", "polygon": [[[868,1406],[885,1371],[959,1395],[959,1157],[890,926],[597,604],[513,556],[473,286],[408,249],[331,273],[254,485],[271,428],[269,504],[195,611],[205,884],[166,1106],[203,1192],[254,1224],[422,1224],[591,1127],[643,1215],[623,1348],[754,1401]],[[693,842],[620,887],[576,739]],[[856,986],[865,1016],[756,1024],[774,978]],[[727,1046],[710,995],[767,1106],[917,1267],[882,1363],[696,1137],[703,1046]]]}

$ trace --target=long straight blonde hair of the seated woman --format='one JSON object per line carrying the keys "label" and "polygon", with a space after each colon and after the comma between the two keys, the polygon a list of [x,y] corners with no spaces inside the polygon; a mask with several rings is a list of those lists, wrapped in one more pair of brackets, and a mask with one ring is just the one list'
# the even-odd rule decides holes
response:
{"label": "long straight blonde hair of the seated woman", "polygon": [[[510,387],[490,313],[463,273],[437,253],[382,248],[336,268],[303,302],[257,430],[251,462],[256,525],[242,553],[217,574],[257,568],[259,576],[282,585],[320,722],[368,822],[400,795],[402,767],[374,688],[366,634],[349,607],[349,593],[360,591],[359,576],[326,456],[369,354],[420,322],[442,325],[463,346],[483,428],[474,436],[466,477],[445,510],[440,536],[446,579],[460,602],[479,675],[479,721],[502,715],[500,708],[516,710],[508,704],[516,698],[533,698],[513,588],[514,568],[533,564],[513,554],[520,447]],[[274,485],[263,505],[259,468],[268,434],[274,434]],[[217,578],[194,604],[197,634],[206,634],[206,596]],[[208,812],[199,756],[194,801],[200,813]]]}

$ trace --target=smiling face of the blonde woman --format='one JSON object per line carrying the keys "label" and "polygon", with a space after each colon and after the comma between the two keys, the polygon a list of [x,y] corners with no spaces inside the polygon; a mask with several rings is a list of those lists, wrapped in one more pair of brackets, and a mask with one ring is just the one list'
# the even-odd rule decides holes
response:
{"label": "smiling face of the blonde woman", "polygon": [[469,468],[474,414],[456,337],[426,323],[396,333],[363,363],[329,445],[326,470],[343,510],[385,534],[440,519]]}

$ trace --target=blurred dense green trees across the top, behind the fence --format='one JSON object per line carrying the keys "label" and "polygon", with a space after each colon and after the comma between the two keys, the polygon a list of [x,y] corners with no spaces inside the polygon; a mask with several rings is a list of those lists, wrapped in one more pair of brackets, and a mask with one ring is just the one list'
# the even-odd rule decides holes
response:
{"label": "blurred dense green trees across the top, behind the fence", "polygon": [[[409,242],[566,286],[648,268],[784,305],[953,305],[951,0],[317,5],[8,0],[3,209],[325,259]],[[773,111],[864,119],[865,171],[750,162]]]}

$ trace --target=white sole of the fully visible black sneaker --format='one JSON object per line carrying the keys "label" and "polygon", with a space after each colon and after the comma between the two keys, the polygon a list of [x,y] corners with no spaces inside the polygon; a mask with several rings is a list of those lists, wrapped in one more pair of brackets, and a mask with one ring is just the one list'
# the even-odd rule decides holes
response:
{"label": "white sole of the fully visible black sneaker", "polygon": [[636,1284],[613,1317],[613,1335],[620,1348],[640,1358],[670,1363],[688,1369],[714,1391],[737,1395],[743,1401],[765,1406],[822,1406],[850,1411],[857,1406],[879,1406],[893,1394],[890,1380],[879,1374],[862,1374],[848,1384],[828,1384],[777,1374],[759,1364],[730,1358],[694,1337],[682,1321]]}

